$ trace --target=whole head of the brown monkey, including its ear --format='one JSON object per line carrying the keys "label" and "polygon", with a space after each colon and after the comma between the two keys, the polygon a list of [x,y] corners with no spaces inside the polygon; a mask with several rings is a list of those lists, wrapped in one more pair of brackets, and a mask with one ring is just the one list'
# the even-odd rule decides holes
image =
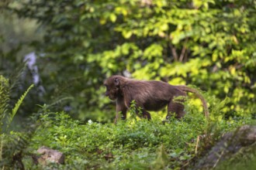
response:
{"label": "whole head of the brown monkey, including its ear", "polygon": [[116,100],[117,97],[122,95],[120,90],[123,81],[126,78],[123,76],[110,76],[104,81],[104,86],[106,87],[106,96],[111,100]]}

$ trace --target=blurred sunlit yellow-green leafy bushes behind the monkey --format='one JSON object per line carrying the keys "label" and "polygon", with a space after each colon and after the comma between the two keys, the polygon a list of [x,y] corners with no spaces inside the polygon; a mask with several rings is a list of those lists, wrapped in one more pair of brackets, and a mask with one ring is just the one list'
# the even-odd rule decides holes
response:
{"label": "blurred sunlit yellow-green leafy bushes behind the monkey", "polygon": [[249,0],[39,0],[9,4],[8,11],[37,20],[46,32],[33,43],[43,53],[37,63],[48,92],[43,103],[71,96],[65,104],[73,114],[108,122],[114,114],[102,81],[127,72],[230,97],[226,117],[254,113],[255,6]]}

